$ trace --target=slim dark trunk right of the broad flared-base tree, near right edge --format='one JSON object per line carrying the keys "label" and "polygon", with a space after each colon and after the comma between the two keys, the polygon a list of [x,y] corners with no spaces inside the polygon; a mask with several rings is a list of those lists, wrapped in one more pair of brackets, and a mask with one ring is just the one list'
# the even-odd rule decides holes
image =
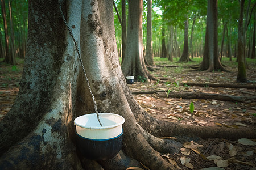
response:
{"label": "slim dark trunk right of the broad flared-base tree, near right edge", "polygon": [[237,60],[238,60],[238,72],[237,82],[246,83],[246,66],[245,66],[245,31],[243,31],[243,8],[245,0],[240,2],[240,16],[238,19],[238,41],[237,41]]}

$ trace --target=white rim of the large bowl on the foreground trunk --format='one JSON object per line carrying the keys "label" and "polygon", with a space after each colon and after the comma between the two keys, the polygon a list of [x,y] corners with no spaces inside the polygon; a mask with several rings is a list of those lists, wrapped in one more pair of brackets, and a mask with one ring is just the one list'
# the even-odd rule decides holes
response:
{"label": "white rim of the large bowl on the foreground trunk", "polygon": [[86,116],[91,116],[92,114],[96,114],[96,113],[90,113],[90,114],[84,114],[82,116],[76,117],[74,120],[74,124],[77,126],[80,126],[82,128],[86,128],[86,129],[110,129],[110,128],[115,128],[117,126],[122,125],[125,122],[125,118],[123,118],[122,116],[120,116],[119,114],[114,114],[114,113],[98,113],[99,116],[104,115],[104,114],[114,114],[117,117],[120,117],[122,119],[121,122],[119,122],[119,124],[115,124],[115,125],[110,125],[110,126],[84,126],[84,125],[80,125],[77,123],[77,120],[81,117],[86,117]]}

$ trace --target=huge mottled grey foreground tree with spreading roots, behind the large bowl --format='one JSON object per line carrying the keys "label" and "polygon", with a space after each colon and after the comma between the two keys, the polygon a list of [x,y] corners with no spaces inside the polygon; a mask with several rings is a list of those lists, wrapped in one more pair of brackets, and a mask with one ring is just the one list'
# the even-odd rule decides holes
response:
{"label": "huge mottled grey foreground tree with spreading roots, behind the large bowl", "polygon": [[[126,169],[139,162],[175,169],[159,152],[179,151],[187,135],[255,138],[255,130],[181,125],[145,112],[119,65],[112,1],[30,1],[28,24],[20,90],[0,123],[0,169]],[[98,111],[125,118],[122,150],[106,161],[86,159],[76,149],[73,120],[94,112],[77,49]],[[179,141],[158,138],[170,135]]]}

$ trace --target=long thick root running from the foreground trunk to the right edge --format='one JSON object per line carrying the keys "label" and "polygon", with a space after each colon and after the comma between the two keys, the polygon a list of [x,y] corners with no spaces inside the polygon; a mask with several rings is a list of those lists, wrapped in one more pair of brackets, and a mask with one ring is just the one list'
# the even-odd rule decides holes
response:
{"label": "long thick root running from the foreground trunk to the right edge", "polygon": [[155,137],[187,135],[188,137],[201,138],[256,138],[256,130],[252,129],[224,129],[219,127],[191,126],[168,121],[160,121],[150,116],[133,100],[129,100],[129,104],[136,108],[133,110],[133,113],[137,122],[143,129]]}

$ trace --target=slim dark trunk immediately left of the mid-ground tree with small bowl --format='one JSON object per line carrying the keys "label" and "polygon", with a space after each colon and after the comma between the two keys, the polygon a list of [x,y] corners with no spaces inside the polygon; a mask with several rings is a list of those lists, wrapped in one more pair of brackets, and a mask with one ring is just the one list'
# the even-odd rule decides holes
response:
{"label": "slim dark trunk immediately left of the mid-ground tree with small bowl", "polygon": [[127,44],[127,25],[126,25],[126,0],[122,0],[122,63],[125,59],[125,50]]}

